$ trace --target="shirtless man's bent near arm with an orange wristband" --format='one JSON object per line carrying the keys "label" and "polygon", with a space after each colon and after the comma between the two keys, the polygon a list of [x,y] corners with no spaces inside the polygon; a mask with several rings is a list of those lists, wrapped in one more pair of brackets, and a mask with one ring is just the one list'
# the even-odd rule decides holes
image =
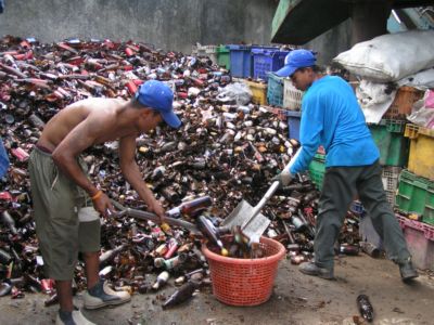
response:
{"label": "shirtless man's bent near arm with an orange wristband", "polygon": [[[52,154],[55,165],[78,186],[84,188],[90,197],[93,197],[99,190],[82,172],[77,156],[91,146],[97,138],[106,131],[106,128],[107,125],[104,121],[89,115],[63,139]],[[113,210],[113,206],[105,194],[98,195],[98,198],[93,199],[93,206],[103,216],[106,216],[107,209]]]}

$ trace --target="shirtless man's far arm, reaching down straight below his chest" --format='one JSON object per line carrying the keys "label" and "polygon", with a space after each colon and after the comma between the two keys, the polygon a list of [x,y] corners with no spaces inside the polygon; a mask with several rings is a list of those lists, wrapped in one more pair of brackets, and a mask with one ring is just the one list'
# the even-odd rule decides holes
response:
{"label": "shirtless man's far arm, reaching down straight below his chest", "polygon": [[136,162],[135,155],[136,136],[122,138],[119,141],[120,170],[128,183],[131,184],[139,196],[146,203],[148,208],[155,212],[163,221],[165,214],[163,207],[155,199],[154,194],[142,180],[142,174]]}

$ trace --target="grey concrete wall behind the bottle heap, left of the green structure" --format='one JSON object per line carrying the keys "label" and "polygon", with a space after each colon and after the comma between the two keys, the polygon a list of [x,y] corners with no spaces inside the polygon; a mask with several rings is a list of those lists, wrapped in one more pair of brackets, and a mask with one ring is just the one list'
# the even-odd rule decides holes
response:
{"label": "grey concrete wall behind the bottle heap, left of the green structure", "polygon": [[269,43],[275,0],[5,0],[0,35],[137,40],[190,52],[195,42]]}

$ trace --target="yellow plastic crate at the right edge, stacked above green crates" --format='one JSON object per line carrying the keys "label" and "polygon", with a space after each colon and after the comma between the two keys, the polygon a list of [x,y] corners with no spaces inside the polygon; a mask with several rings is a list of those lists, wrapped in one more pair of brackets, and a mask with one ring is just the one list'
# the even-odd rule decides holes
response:
{"label": "yellow plastic crate at the right edge, stacked above green crates", "polygon": [[418,176],[434,180],[434,129],[407,125],[405,136],[410,139],[408,169]]}

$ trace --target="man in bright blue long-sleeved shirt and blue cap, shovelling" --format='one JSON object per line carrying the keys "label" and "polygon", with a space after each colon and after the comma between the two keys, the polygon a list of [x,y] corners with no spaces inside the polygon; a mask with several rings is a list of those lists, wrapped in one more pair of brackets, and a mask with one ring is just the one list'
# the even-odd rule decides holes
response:
{"label": "man in bright blue long-sleeved shirt and blue cap, shovelling", "polygon": [[277,179],[288,185],[292,176],[308,168],[319,145],[327,152],[326,176],[319,202],[315,236],[315,259],[299,271],[327,280],[334,278],[334,243],[353,198],[358,194],[382,238],[388,258],[399,265],[403,281],[418,276],[394,212],[386,200],[381,179],[380,153],[366,125],[352,87],[336,76],[323,76],[316,57],[307,50],[295,50],[277,72],[291,77],[302,102],[299,140],[302,147],[290,168]]}

